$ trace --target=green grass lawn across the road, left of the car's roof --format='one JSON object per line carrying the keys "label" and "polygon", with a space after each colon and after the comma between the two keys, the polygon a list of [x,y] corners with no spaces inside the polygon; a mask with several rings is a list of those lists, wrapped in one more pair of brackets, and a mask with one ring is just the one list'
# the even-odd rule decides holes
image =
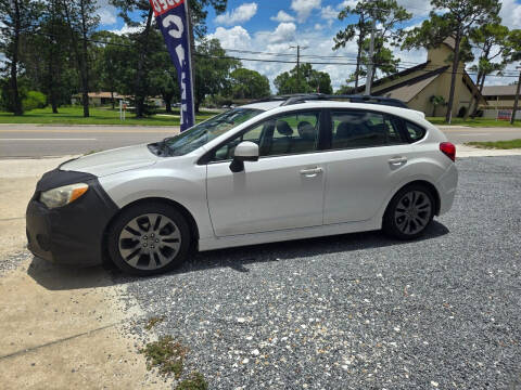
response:
{"label": "green grass lawn across the road, left of the car's roof", "polygon": [[[90,117],[84,118],[84,108],[78,106],[60,107],[59,114],[52,114],[51,107],[37,108],[14,116],[11,113],[0,113],[0,123],[46,123],[46,125],[126,125],[126,126],[179,126],[179,110],[173,115],[153,115],[137,119],[134,114],[127,113],[126,120],[119,120],[119,112],[110,108],[90,107]],[[202,121],[216,115],[212,112],[201,112],[196,121]]]}

